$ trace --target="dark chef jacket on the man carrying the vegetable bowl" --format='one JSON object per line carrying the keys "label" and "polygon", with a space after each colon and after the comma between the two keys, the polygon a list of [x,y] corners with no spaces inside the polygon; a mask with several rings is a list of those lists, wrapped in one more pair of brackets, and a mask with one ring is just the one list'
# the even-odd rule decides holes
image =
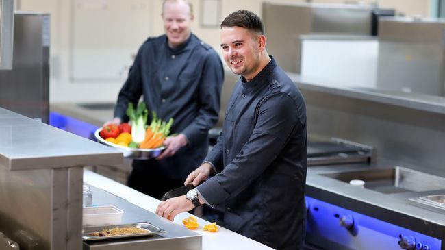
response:
{"label": "dark chef jacket on the man carrying the vegetable bowl", "polygon": [[142,44],[118,95],[114,116],[128,121],[129,101],[140,96],[163,121],[174,118],[171,134],[186,135],[188,146],[164,160],[134,160],[133,168],[170,179],[185,179],[208,150],[208,130],[218,121],[223,64],[218,54],[190,34],[179,47],[168,47],[165,35]]}

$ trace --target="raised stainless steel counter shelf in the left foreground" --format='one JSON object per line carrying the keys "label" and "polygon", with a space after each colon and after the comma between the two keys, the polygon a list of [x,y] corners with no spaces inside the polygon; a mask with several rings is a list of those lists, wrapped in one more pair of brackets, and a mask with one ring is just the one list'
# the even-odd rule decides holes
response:
{"label": "raised stainless steel counter shelf in the left foreground", "polygon": [[0,232],[24,250],[80,249],[83,167],[122,153],[0,108]]}

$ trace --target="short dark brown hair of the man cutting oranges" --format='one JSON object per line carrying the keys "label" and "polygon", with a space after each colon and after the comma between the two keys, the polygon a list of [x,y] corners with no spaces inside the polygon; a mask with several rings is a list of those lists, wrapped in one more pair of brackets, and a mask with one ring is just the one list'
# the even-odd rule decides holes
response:
{"label": "short dark brown hair of the man cutting oranges", "polygon": [[229,14],[221,23],[221,28],[223,27],[243,27],[264,35],[264,25],[261,18],[249,10],[237,10]]}

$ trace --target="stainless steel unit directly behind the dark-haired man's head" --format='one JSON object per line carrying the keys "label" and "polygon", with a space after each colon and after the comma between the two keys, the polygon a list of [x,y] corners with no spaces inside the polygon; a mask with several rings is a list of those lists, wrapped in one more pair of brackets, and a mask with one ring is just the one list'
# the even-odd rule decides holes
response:
{"label": "stainless steel unit directly behind the dark-haired man's head", "polygon": [[370,35],[373,9],[353,4],[263,3],[268,53],[285,71],[300,73],[300,35]]}

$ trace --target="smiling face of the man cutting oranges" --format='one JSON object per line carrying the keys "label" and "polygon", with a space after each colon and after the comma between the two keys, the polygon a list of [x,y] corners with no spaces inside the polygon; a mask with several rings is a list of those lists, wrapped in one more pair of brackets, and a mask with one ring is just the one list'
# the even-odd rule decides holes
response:
{"label": "smiling face of the man cutting oranges", "polygon": [[250,81],[259,73],[259,36],[243,27],[222,27],[221,48],[233,73]]}

